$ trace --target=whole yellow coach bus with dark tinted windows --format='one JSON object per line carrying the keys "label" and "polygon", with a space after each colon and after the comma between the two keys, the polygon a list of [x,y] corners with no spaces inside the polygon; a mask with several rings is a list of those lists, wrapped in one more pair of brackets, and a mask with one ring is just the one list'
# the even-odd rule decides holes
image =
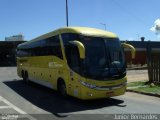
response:
{"label": "whole yellow coach bus with dark tinted windows", "polygon": [[66,27],[17,47],[17,74],[57,90],[63,96],[99,99],[123,95],[126,65],[123,48],[114,33],[86,27]]}

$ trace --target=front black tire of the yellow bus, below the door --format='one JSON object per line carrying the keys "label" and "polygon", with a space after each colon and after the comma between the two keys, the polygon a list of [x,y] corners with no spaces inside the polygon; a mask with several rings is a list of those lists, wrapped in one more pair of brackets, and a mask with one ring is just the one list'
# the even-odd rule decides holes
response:
{"label": "front black tire of the yellow bus, below the door", "polygon": [[66,84],[63,80],[58,83],[58,91],[63,97],[67,97],[67,89]]}

